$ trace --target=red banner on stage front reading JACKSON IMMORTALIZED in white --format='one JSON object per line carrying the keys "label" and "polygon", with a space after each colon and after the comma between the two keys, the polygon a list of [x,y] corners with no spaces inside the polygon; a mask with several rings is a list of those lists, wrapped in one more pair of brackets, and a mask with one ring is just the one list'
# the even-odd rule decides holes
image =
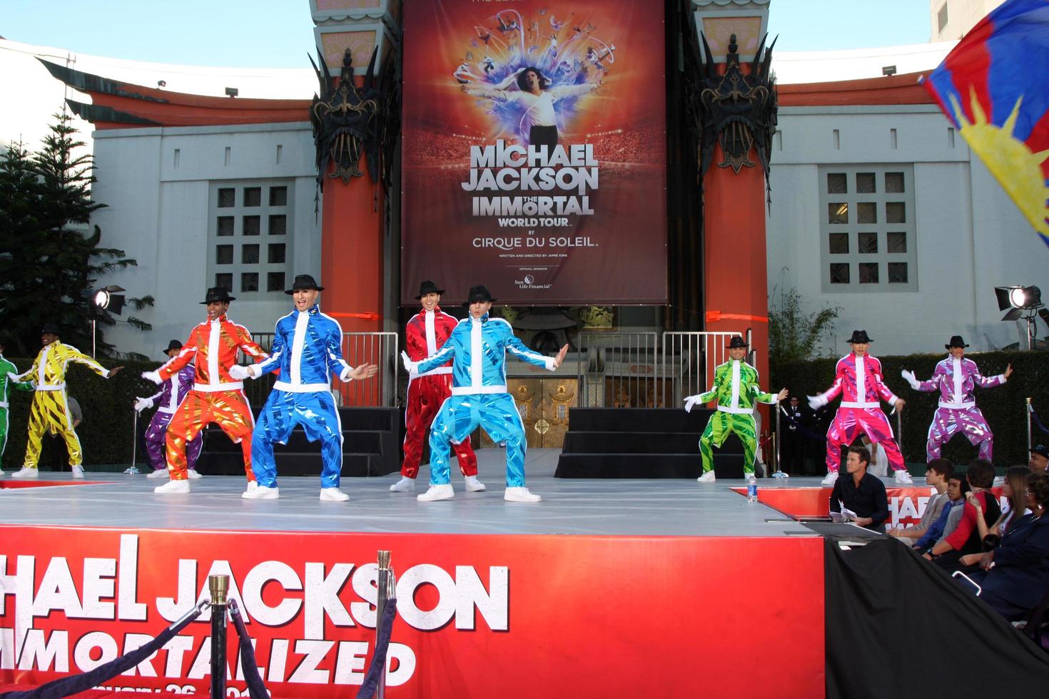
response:
{"label": "red banner on stage front reading JACKSON IMMORTALIZED in white", "polygon": [[[140,647],[221,573],[274,697],[351,696],[374,645],[370,562],[389,549],[391,698],[823,692],[821,539],[3,526],[0,541],[0,685]],[[106,686],[206,694],[207,618]],[[777,649],[790,662],[758,670]],[[248,696],[229,650],[229,696]]]}

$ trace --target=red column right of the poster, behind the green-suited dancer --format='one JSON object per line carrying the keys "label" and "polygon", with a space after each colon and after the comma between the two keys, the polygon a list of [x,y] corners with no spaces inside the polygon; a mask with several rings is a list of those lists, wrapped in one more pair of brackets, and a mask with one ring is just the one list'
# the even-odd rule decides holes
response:
{"label": "red column right of the poster, behind the green-suited dancer", "polygon": [[[769,391],[769,291],[765,245],[765,173],[759,165],[719,168],[725,159],[716,147],[713,165],[704,179],[703,284],[706,330],[751,328],[751,349],[757,350],[757,371]],[[757,162],[756,153],[751,159]],[[713,320],[715,311],[753,316]],[[761,320],[758,320],[761,319]],[[767,457],[766,457],[767,458]]]}

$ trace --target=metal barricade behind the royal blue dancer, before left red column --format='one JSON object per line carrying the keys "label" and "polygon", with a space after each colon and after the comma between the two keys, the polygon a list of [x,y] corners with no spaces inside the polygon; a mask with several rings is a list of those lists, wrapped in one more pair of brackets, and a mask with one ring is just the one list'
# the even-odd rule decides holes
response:
{"label": "metal barricade behind the royal blue dancer, before left red column", "polygon": [[[252,338],[263,350],[273,349],[273,332],[253,332]],[[363,381],[343,383],[336,378],[331,383],[336,403],[340,406],[366,406],[392,408],[397,405],[398,378],[401,370],[400,350],[395,332],[344,332],[342,333],[342,356],[351,367],[362,364],[379,366],[374,378]],[[253,362],[254,359],[251,359]],[[238,354],[238,362],[250,361]],[[244,381],[244,394],[252,406],[265,402],[277,377],[266,374],[258,379]]]}

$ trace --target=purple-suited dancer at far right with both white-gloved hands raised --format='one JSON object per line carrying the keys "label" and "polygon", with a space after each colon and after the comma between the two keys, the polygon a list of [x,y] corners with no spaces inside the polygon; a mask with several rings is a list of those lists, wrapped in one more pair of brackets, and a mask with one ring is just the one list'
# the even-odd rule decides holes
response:
{"label": "purple-suited dancer at far right with both white-gloved hands raised", "polygon": [[944,347],[950,352],[950,356],[936,365],[933,378],[919,381],[914,372],[905,369],[902,372],[903,378],[916,391],[940,392],[940,407],[933,415],[933,423],[928,425],[925,457],[929,461],[939,459],[943,445],[961,430],[969,443],[980,446],[980,458],[990,461],[994,435],[983,413],[977,408],[972,392],[977,386],[989,389],[1005,384],[1012,373],[1012,365],[998,376],[983,376],[977,363],[965,358],[965,348],[968,345],[961,335],[954,335]]}

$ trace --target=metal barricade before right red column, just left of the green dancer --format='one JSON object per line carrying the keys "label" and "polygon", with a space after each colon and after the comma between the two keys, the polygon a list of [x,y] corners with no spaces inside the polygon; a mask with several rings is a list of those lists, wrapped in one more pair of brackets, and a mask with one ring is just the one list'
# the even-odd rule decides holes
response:
{"label": "metal barricade before right red column, just left of the green dancer", "polygon": [[677,408],[690,395],[707,391],[714,367],[728,361],[729,338],[740,332],[664,332],[660,356],[663,406]]}

